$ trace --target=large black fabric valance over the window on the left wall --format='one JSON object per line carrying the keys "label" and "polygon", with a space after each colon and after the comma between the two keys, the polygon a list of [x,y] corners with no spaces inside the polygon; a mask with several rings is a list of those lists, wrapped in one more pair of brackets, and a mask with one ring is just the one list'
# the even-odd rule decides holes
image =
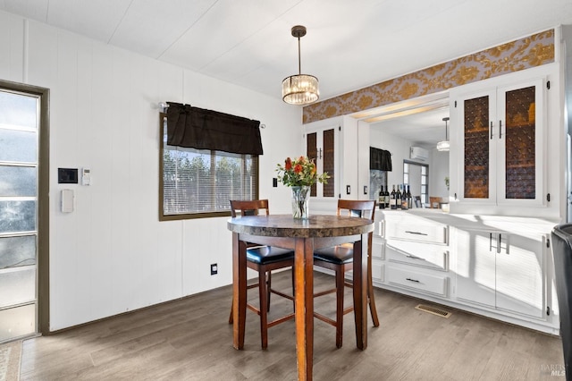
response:
{"label": "large black fabric valance over the window on the left wall", "polygon": [[260,122],[167,102],[167,144],[244,155],[262,155]]}

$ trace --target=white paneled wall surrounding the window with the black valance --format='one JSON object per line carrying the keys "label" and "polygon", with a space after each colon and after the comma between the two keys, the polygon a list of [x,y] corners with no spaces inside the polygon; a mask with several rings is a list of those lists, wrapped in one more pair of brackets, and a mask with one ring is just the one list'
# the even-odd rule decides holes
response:
{"label": "white paneled wall surrounding the window with the black valance", "polygon": [[[50,89],[52,330],[231,284],[226,218],[158,221],[158,102],[264,123],[260,197],[289,212],[272,177],[301,153],[301,109],[282,102],[282,78],[266,97],[1,12],[0,51],[0,79]],[[92,184],[64,187],[58,167],[88,167]],[[59,211],[63,188],[75,190],[71,214]]]}

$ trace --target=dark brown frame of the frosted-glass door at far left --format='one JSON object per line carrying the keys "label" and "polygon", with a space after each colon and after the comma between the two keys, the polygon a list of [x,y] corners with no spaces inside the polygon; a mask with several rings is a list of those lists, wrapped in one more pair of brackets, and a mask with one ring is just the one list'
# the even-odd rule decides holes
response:
{"label": "dark brown frame of the frosted-glass door at far left", "polygon": [[25,83],[0,80],[0,89],[38,97],[38,333],[50,332],[50,90]]}

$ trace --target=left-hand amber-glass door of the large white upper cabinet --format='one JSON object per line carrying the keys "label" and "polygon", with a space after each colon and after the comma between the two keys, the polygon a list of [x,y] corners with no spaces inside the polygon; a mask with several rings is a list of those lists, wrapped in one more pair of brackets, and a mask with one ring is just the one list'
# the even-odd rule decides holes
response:
{"label": "left-hand amber-glass door of the large white upper cabinet", "polygon": [[493,164],[496,150],[492,144],[492,120],[496,114],[494,90],[467,94],[458,99],[458,120],[462,123],[459,155],[459,199],[473,203],[493,203],[496,177]]}

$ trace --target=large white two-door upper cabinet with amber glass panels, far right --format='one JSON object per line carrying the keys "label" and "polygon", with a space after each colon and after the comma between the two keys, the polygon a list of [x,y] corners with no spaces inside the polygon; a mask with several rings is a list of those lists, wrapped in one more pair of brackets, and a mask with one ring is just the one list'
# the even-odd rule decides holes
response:
{"label": "large white two-door upper cabinet with amber glass panels, far right", "polygon": [[460,202],[543,206],[544,89],[536,78],[451,90]]}

